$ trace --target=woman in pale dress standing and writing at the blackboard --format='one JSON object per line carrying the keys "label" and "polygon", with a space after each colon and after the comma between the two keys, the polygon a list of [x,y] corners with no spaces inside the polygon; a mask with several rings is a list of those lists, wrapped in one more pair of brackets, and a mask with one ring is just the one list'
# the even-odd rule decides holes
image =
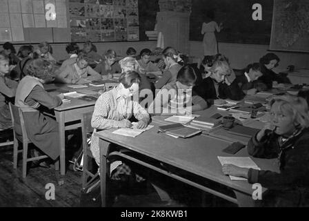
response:
{"label": "woman in pale dress standing and writing at the blackboard", "polygon": [[201,34],[203,38],[204,56],[213,56],[218,54],[217,39],[215,31],[220,32],[223,28],[222,23],[218,26],[217,22],[214,21],[215,12],[208,10],[206,13],[206,19],[203,22]]}

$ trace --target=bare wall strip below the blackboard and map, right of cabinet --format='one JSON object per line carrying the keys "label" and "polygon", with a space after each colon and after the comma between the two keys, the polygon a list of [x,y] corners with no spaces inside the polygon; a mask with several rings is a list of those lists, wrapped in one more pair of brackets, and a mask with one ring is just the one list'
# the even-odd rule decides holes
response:
{"label": "bare wall strip below the blackboard and map, right of cabinet", "polygon": [[[269,46],[254,44],[219,43],[219,53],[226,55],[232,68],[244,68],[252,62],[259,61],[260,57],[268,53]],[[295,68],[309,68],[309,54],[295,52],[274,52],[281,59],[275,71],[286,70],[292,64]],[[201,41],[190,41],[190,55],[203,57]]]}

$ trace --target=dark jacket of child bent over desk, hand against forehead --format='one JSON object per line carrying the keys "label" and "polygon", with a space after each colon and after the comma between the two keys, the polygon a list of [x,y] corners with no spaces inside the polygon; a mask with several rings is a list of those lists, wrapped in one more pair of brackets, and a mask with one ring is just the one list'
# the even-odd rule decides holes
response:
{"label": "dark jacket of child bent over desk, hand against forehead", "polygon": [[245,94],[239,88],[237,81],[233,81],[230,86],[225,83],[219,83],[219,95],[217,95],[215,81],[210,77],[203,79],[201,84],[195,86],[193,90],[210,105],[214,104],[215,99],[232,99],[239,101],[245,97]]}

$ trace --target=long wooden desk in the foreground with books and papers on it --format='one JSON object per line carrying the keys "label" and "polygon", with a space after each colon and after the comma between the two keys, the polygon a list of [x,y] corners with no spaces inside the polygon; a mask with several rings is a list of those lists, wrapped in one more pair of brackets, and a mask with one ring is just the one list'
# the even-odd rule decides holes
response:
{"label": "long wooden desk in the foreground with books and papers on it", "polygon": [[[100,131],[94,134],[100,138],[102,206],[106,205],[106,157],[108,156],[109,145],[111,143],[123,146],[135,153],[151,157],[153,160],[161,162],[161,164],[175,166],[177,169],[188,171],[206,180],[211,180],[212,182],[226,186],[235,193],[235,198],[225,193],[220,193],[207,186],[207,184],[197,184],[192,180],[181,177],[181,175],[148,164],[148,162],[134,159],[134,157],[129,159],[138,164],[147,166],[159,173],[173,177],[181,182],[195,186],[230,202],[234,202],[239,206],[254,206],[255,202],[252,200],[252,185],[248,184],[246,181],[231,181],[230,177],[223,175],[221,171],[222,166],[217,156],[232,156],[222,152],[223,148],[226,148],[230,142],[206,135],[198,135],[188,139],[175,139],[163,133],[157,133],[157,126],[159,126],[159,124],[155,122],[152,124],[155,126],[154,128],[135,138],[113,134],[112,131],[114,131],[114,129]],[[246,157],[248,153],[246,149],[243,149],[234,156]],[[257,159],[253,157],[252,159],[261,169],[278,171],[274,164],[275,160]],[[168,168],[168,166],[166,166],[166,168]],[[263,191],[266,191],[266,189],[263,189]]]}

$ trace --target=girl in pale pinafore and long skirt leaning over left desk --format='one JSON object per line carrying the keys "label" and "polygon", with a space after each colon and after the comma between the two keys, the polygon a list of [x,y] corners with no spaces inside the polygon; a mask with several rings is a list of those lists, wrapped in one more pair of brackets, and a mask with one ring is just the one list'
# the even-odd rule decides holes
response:
{"label": "girl in pale pinafore and long skirt leaning over left desk", "polygon": [[[50,95],[43,83],[52,75],[52,64],[43,59],[34,59],[17,87],[15,105],[23,113],[29,140],[52,160],[59,157],[59,131],[57,122],[43,114],[43,108],[53,109],[62,104],[63,95]],[[21,135],[21,128],[15,128]]]}

